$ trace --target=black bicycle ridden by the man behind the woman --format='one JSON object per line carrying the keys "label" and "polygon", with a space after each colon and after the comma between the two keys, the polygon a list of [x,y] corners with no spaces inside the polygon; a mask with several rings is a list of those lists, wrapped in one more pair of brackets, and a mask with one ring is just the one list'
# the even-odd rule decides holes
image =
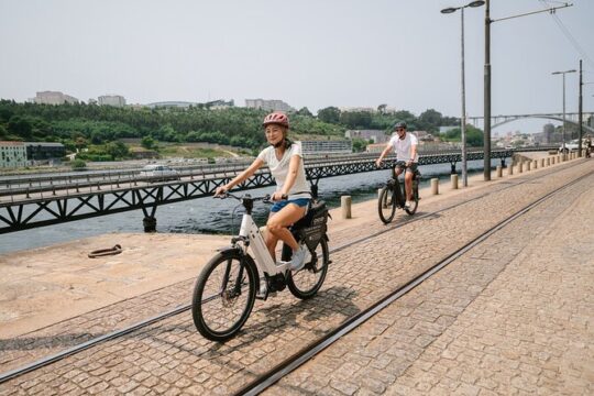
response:
{"label": "black bicycle ridden by the man behind the woman", "polygon": [[[397,162],[396,166],[400,166],[406,173],[406,163]],[[377,200],[377,213],[380,220],[385,224],[389,223],[396,215],[396,208],[404,209],[408,215],[415,215],[417,207],[419,206],[419,179],[420,172],[417,169],[413,174],[413,205],[406,206],[406,193],[404,183],[400,184],[394,169],[392,170],[392,177],[386,182],[385,186],[380,191],[380,198]],[[402,186],[402,187],[400,187]]]}

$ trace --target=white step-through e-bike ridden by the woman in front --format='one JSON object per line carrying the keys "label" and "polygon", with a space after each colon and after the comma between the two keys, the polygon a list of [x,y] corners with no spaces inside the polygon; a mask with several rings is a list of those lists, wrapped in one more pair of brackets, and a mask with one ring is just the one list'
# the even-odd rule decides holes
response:
{"label": "white step-through e-bike ridden by the woman in front", "polygon": [[[227,197],[239,200],[245,208],[240,233],[202,268],[191,304],[196,329],[207,339],[219,342],[241,330],[256,298],[266,299],[270,293],[280,292],[286,286],[298,298],[312,297],[323,284],[330,264],[328,209],[323,201],[312,201],[307,215],[289,228],[299,245],[307,245],[310,253],[306,255],[304,267],[294,272],[289,265],[292,249],[283,245],[280,261],[275,263],[252,218],[254,202],[271,202],[270,197],[226,193],[220,198]],[[261,280],[265,283],[263,293]]]}

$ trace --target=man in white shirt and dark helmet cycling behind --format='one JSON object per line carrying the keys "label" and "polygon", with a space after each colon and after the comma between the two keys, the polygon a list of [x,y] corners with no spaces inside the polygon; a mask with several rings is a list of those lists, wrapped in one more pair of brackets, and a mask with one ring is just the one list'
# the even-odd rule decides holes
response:
{"label": "man in white shirt and dark helmet cycling behind", "polygon": [[[413,176],[417,172],[419,162],[419,154],[417,153],[417,146],[419,141],[413,133],[406,131],[406,122],[397,122],[394,125],[396,134],[392,136],[386,147],[380,154],[380,157],[375,162],[377,167],[382,166],[382,160],[394,150],[396,153],[396,161],[405,163],[405,190],[406,190],[406,206],[411,207],[413,204]],[[403,173],[404,168],[399,164],[396,164],[394,168],[394,177],[398,177]]]}

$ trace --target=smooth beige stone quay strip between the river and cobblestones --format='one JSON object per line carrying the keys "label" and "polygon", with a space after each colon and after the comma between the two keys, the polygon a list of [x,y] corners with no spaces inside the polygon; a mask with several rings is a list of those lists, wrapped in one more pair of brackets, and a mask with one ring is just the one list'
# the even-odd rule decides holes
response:
{"label": "smooth beige stone quay strip between the river and cobblestones", "polygon": [[[535,170],[532,170],[535,172]],[[538,170],[536,170],[538,172]],[[424,207],[447,201],[470,189],[490,188],[509,177],[484,182],[483,175],[469,178],[469,187],[452,189],[442,183],[439,195],[420,189],[419,215]],[[376,200],[352,206],[352,219],[342,219],[341,208],[331,210],[331,246],[361,235],[376,226]],[[395,222],[405,221],[399,215]],[[404,216],[404,218],[402,217]],[[77,315],[194,278],[218,248],[229,243],[228,235],[186,233],[108,233],[0,255],[0,337],[16,337]],[[122,246],[113,256],[89,258],[99,249]],[[188,295],[189,299],[189,295]]]}

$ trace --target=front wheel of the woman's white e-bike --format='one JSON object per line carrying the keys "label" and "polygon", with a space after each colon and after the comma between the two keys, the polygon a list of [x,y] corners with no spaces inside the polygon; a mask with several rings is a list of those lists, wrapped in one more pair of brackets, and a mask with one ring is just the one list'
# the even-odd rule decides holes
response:
{"label": "front wheel of the woman's white e-bike", "polygon": [[212,341],[227,341],[243,327],[254,307],[257,270],[250,256],[218,253],[205,266],[191,301],[196,329]]}

